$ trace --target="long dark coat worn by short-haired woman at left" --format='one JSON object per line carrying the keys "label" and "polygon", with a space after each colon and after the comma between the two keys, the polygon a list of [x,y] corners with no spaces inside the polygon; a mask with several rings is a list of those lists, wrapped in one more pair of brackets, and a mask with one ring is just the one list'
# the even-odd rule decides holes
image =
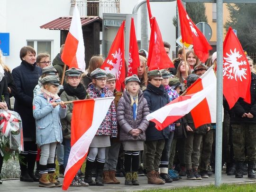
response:
{"label": "long dark coat worn by short-haired woman at left", "polygon": [[42,75],[42,69],[22,61],[20,66],[12,70],[17,93],[14,95],[14,111],[18,112],[22,119],[23,136],[26,141],[36,141],[36,124],[33,117],[33,90],[38,84],[38,78]]}

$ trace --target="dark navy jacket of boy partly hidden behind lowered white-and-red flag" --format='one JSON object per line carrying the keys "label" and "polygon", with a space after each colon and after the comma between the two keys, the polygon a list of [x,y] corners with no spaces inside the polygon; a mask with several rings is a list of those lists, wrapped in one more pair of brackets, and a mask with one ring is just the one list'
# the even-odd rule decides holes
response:
{"label": "dark navy jacket of boy partly hidden behind lowered white-and-red flag", "polygon": [[[160,87],[157,88],[151,83],[148,83],[146,91],[144,92],[144,98],[147,101],[147,106],[150,113],[164,107],[167,103],[169,103],[169,96],[163,85],[160,85]],[[158,131],[155,128],[155,123],[150,121],[146,129],[146,141],[168,139],[169,134],[170,132],[167,127],[162,131]]]}

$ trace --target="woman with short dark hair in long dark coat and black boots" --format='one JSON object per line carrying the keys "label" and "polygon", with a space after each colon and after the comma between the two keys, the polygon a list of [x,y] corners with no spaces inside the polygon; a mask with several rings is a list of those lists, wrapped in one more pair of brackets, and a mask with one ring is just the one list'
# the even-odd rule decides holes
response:
{"label": "woman with short dark hair in long dark coat and black boots", "polygon": [[15,94],[14,111],[18,112],[22,119],[24,151],[19,155],[20,181],[39,181],[34,175],[34,167],[37,156],[36,124],[33,117],[33,90],[42,75],[42,69],[36,66],[36,51],[26,46],[19,53],[20,66],[12,70],[17,93]]}

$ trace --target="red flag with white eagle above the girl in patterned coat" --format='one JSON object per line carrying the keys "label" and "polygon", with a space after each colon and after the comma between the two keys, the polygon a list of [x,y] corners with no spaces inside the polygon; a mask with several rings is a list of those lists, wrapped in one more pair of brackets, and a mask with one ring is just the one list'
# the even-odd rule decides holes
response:
{"label": "red flag with white eagle above the girl in patterned coat", "polygon": [[125,21],[120,26],[109,55],[101,66],[101,69],[116,76],[116,89],[118,91],[120,91],[121,84],[125,79],[124,27]]}

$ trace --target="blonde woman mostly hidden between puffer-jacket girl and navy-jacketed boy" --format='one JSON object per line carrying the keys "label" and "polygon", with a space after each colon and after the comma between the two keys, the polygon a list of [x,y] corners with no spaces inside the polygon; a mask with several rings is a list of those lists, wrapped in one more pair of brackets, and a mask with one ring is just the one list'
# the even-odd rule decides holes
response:
{"label": "blonde woman mostly hidden between puffer-jacket girl and navy-jacketed boy", "polygon": [[140,80],[140,88],[142,91],[146,89],[147,82],[147,66],[146,66],[146,58],[139,55],[139,67],[138,67],[138,78]]}

